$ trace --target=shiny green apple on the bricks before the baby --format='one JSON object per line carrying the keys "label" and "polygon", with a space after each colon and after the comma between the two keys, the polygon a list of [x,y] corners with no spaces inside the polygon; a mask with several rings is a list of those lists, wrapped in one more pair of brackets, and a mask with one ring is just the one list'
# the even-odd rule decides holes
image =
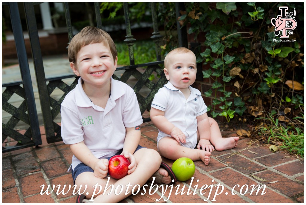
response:
{"label": "shiny green apple on the bricks before the baby", "polygon": [[177,180],[187,181],[193,176],[194,172],[196,171],[196,166],[191,159],[181,157],[174,161],[172,171],[174,172]]}

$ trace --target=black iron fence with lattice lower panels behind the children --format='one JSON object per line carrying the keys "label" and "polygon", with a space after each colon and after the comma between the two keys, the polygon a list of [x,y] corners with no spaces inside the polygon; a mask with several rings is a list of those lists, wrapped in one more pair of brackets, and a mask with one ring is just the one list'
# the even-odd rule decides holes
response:
{"label": "black iron fence with lattice lower panels behind the children", "polygon": [[[53,143],[57,141],[62,141],[61,126],[58,123],[54,122],[54,119],[60,114],[60,105],[65,95],[76,86],[77,77],[75,75],[64,75],[53,78],[46,78],[34,12],[34,4],[39,3],[41,2],[23,2],[23,5],[27,22],[29,40],[31,44],[32,59],[35,69],[35,76],[38,86],[39,100],[43,115],[43,124],[46,132],[46,138],[48,143]],[[166,78],[164,77],[162,70],[163,67],[161,67],[163,61],[161,58],[159,43],[161,41],[162,36],[160,35],[158,30],[158,22],[156,17],[157,11],[155,8],[156,4],[153,2],[148,3],[151,4],[152,8],[152,23],[154,32],[152,33],[151,39],[155,42],[156,45],[156,61],[147,62],[144,64],[135,64],[133,44],[136,39],[133,38],[131,32],[128,3],[124,2],[126,25],[126,36],[124,42],[126,42],[127,49],[129,50],[130,65],[117,68],[116,71],[124,71],[120,78],[116,75],[113,76],[114,79],[120,80],[122,82],[127,82],[131,77],[137,79],[137,82],[135,83],[135,85],[133,85],[133,89],[140,104],[140,111],[142,114],[144,114],[147,110],[150,109],[151,101],[153,100],[155,93],[160,87],[162,87],[166,83]],[[10,82],[2,84],[2,88],[5,88],[5,90],[2,92],[2,110],[12,115],[7,123],[2,122],[2,152],[9,152],[21,148],[41,145],[42,140],[39,130],[39,120],[34,100],[34,93],[28,58],[25,49],[21,20],[19,16],[19,8],[17,2],[2,2],[2,5],[8,6],[10,11],[13,35],[16,43],[18,62],[22,77],[22,80],[19,82]],[[68,45],[68,42],[70,42],[70,40],[73,38],[73,29],[69,12],[69,3],[63,2],[63,5],[69,38],[67,39]],[[180,15],[179,11],[184,10],[184,3],[175,3],[175,9],[177,11],[178,17]],[[98,2],[95,2],[95,16],[97,22],[96,26],[102,28]],[[187,47],[186,30],[181,30],[179,24],[177,30],[179,46]],[[140,71],[137,68],[142,68],[142,70]],[[153,82],[149,80],[149,77],[152,75],[152,73],[161,77],[159,77],[159,79]],[[72,79],[73,82],[68,85],[64,82],[65,79]],[[146,96],[140,94],[140,90],[144,86],[146,86],[146,90],[149,90]],[[51,93],[55,89],[60,89],[64,93],[62,97],[60,97],[58,100],[55,100],[54,98],[50,97]],[[15,107],[14,105],[8,102],[14,93],[24,99],[24,101],[19,107]],[[25,133],[21,133],[15,129],[19,121],[23,121],[28,125],[28,129],[26,129]],[[150,118],[144,117],[144,122],[147,121],[150,121]]]}

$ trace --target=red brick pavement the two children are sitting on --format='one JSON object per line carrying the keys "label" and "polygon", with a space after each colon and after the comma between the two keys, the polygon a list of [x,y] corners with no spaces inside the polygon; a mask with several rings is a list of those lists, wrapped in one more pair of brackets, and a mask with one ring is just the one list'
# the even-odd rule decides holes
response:
{"label": "red brick pavement the two children are sitting on", "polygon": [[[69,146],[63,142],[47,144],[43,127],[41,130],[43,145],[40,148],[2,154],[2,203],[75,202],[76,195],[72,189],[67,189],[73,185],[71,174],[66,171],[72,157]],[[144,123],[141,130],[140,145],[157,150],[156,127]],[[235,132],[222,134],[229,137]],[[174,162],[164,158],[163,161],[170,166]],[[141,194],[144,193],[141,189],[121,203],[156,203],[159,199],[158,203],[166,203],[164,200],[169,195],[167,202],[172,203],[304,203],[304,159],[280,151],[272,153],[268,145],[259,145],[248,138],[241,137],[238,146],[232,150],[212,152],[208,166],[200,161],[195,165],[193,179],[177,182],[166,191],[161,186],[156,189],[156,183],[150,190],[151,183],[148,182],[146,194]],[[47,185],[54,185],[54,191],[41,195]],[[56,193],[57,185],[61,185],[61,190],[66,185],[64,192]],[[263,185],[266,187],[261,195]],[[261,189],[256,194],[259,187]]]}

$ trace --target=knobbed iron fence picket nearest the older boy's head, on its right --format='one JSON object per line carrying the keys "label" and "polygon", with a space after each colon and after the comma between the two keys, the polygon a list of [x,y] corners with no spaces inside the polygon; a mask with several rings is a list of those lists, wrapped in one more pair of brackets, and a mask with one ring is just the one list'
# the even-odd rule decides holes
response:
{"label": "knobbed iron fence picket nearest the older boy's head, on its right", "polygon": [[124,16],[125,16],[125,26],[126,26],[126,36],[125,36],[125,42],[129,47],[129,57],[130,57],[130,65],[135,65],[134,60],[134,50],[133,50],[133,44],[136,41],[135,38],[132,36],[131,32],[131,23],[130,23],[130,17],[129,17],[129,7],[127,2],[123,2],[123,9],[124,9]]}

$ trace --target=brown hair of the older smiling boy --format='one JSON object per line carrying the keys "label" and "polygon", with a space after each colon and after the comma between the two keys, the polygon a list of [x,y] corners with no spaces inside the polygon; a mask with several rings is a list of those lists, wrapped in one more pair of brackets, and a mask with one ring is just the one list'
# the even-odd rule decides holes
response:
{"label": "brown hair of the older smiling boy", "polygon": [[116,45],[110,35],[102,29],[87,26],[71,39],[68,46],[69,62],[76,62],[76,55],[83,46],[87,46],[91,43],[101,42],[110,47],[110,52],[115,60],[117,57]]}

